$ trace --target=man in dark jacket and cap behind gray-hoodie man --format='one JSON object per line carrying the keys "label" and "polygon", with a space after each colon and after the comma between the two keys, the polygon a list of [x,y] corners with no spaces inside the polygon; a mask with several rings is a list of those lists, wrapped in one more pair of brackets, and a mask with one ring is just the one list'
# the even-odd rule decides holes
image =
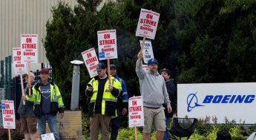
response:
{"label": "man in dark jacket and cap behind gray-hoodie man", "polygon": [[168,135],[168,125],[170,124],[170,119],[174,115],[174,113],[177,111],[177,89],[174,85],[174,79],[170,79],[171,74],[168,69],[161,69],[160,73],[162,77],[165,79],[165,85],[167,88],[167,92],[169,95],[169,99],[171,100],[171,113],[167,112],[166,105],[163,105],[165,107],[165,118],[166,118],[166,130],[165,130],[165,136],[163,137],[164,140],[169,140],[170,136]]}

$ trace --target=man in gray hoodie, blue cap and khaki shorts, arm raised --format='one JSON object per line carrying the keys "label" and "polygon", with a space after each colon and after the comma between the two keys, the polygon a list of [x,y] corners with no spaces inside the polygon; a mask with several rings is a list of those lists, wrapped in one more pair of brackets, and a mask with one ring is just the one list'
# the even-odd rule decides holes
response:
{"label": "man in gray hoodie, blue cap and khaki shorts, arm raised", "polygon": [[148,71],[142,69],[142,53],[137,55],[136,73],[140,80],[140,94],[143,99],[144,126],[143,139],[151,139],[152,123],[157,129],[157,140],[163,140],[165,133],[165,112],[163,104],[171,113],[171,102],[168,97],[165,80],[157,71],[157,60],[148,60]]}

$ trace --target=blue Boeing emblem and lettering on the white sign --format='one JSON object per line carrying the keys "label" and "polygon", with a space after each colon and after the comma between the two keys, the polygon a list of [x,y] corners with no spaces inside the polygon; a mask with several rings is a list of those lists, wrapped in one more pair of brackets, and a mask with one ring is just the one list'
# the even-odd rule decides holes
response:
{"label": "blue Boeing emblem and lettering on the white sign", "polygon": [[[203,95],[200,95],[203,96]],[[206,106],[209,104],[251,104],[255,100],[254,94],[233,94],[233,95],[205,95],[203,102],[198,103],[197,92],[188,94],[187,111],[192,111],[195,107]]]}

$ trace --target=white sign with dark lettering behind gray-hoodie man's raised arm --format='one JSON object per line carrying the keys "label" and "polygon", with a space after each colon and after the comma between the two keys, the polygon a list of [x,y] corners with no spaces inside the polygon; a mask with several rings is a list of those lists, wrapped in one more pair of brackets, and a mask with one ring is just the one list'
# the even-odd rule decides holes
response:
{"label": "white sign with dark lettering behind gray-hoodie man's raised arm", "polygon": [[[140,41],[140,46],[142,46],[142,41]],[[145,41],[142,51],[144,63],[148,63],[148,60],[154,58],[151,41]]]}

